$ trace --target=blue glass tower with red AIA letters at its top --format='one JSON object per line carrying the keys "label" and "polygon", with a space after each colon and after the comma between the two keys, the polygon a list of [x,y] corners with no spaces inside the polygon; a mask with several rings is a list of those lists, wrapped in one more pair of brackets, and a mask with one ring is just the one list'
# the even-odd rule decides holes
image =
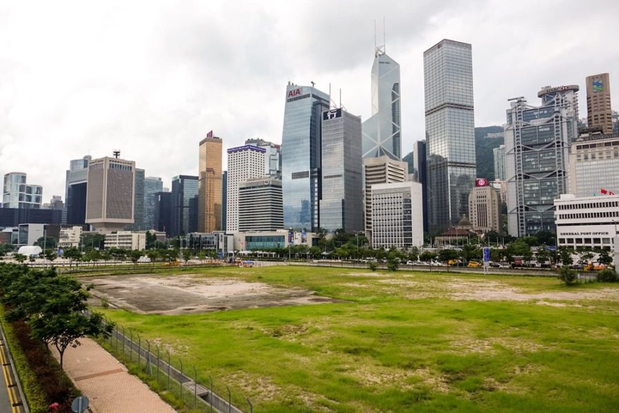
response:
{"label": "blue glass tower with red AIA letters at its top", "polygon": [[321,119],[329,95],[288,83],[281,144],[284,226],[316,232],[320,227]]}

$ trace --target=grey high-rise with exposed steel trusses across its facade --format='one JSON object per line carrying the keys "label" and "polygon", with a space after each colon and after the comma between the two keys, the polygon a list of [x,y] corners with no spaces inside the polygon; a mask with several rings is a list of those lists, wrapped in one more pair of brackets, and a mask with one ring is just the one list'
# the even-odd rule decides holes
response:
{"label": "grey high-rise with exposed steel trusses across its facade", "polygon": [[578,136],[578,86],[545,87],[542,105],[511,99],[505,126],[509,235],[555,231],[554,199],[567,191],[569,145]]}

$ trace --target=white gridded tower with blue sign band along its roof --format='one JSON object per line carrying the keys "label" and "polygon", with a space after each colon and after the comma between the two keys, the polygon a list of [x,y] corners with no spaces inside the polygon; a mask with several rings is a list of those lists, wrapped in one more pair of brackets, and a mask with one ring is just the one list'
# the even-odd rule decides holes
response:
{"label": "white gridded tower with blue sign band along its roof", "polygon": [[266,149],[254,145],[230,148],[226,189],[225,230],[239,232],[239,182],[264,176]]}

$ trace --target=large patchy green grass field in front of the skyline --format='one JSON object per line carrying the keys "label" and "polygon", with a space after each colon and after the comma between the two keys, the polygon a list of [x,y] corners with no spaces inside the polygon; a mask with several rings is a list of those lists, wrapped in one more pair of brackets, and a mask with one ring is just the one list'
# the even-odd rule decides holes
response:
{"label": "large patchy green grass field in front of the skyline", "polygon": [[301,266],[200,276],[346,300],[177,316],[105,310],[195,365],[202,383],[210,374],[230,385],[237,405],[249,396],[255,412],[619,410],[612,284]]}

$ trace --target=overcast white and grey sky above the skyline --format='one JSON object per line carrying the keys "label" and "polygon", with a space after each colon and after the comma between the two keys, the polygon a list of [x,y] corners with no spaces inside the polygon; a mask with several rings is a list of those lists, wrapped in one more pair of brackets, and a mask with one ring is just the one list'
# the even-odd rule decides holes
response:
{"label": "overcast white and grey sky above the skyline", "polygon": [[423,51],[473,45],[476,126],[507,98],[609,72],[619,109],[619,2],[0,0],[0,173],[64,198],[69,160],[121,156],[147,176],[196,174],[211,129],[224,147],[281,142],[285,86],[316,82],[370,116],[374,21],[400,63],[402,153],[424,136]]}

